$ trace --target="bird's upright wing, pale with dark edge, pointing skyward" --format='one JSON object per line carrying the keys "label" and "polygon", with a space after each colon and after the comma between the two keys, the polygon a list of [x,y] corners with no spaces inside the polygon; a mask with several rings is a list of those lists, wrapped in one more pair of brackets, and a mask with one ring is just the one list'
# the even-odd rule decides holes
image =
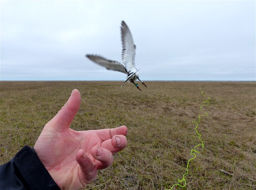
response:
{"label": "bird's upright wing, pale with dark edge, pointing skyward", "polygon": [[122,36],[122,61],[125,65],[127,72],[134,70],[135,68],[135,45],[133,43],[133,37],[127,26],[127,24],[122,20],[121,23],[121,36]]}

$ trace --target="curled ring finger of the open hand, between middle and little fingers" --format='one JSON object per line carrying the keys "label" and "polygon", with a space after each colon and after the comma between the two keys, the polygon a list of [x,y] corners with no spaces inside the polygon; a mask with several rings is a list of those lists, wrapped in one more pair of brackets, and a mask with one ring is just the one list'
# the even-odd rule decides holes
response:
{"label": "curled ring finger of the open hand, between middle and little fingers", "polygon": [[107,149],[94,146],[91,149],[91,155],[95,158],[94,162],[98,170],[107,168],[113,163],[113,155]]}

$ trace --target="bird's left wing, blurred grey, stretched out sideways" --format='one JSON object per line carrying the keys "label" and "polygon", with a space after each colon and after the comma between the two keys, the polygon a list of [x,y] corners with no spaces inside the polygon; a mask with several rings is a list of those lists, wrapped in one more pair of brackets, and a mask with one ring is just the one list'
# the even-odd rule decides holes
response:
{"label": "bird's left wing, blurred grey, stretched out sideways", "polygon": [[88,57],[93,62],[95,62],[103,67],[106,67],[106,69],[113,70],[113,71],[120,71],[122,73],[127,74],[125,66],[123,66],[123,64],[121,64],[118,61],[107,60],[104,57],[97,56],[97,55],[90,55],[90,54],[86,54],[86,57]]}

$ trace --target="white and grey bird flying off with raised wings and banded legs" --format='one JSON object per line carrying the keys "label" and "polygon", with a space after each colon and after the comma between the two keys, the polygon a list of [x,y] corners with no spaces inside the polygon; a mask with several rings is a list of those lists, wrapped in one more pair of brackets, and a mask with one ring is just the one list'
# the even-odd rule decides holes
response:
{"label": "white and grey bird flying off with raised wings and banded legs", "polygon": [[[122,63],[119,61],[109,60],[105,57],[95,54],[86,54],[85,56],[89,58],[91,61],[106,67],[108,70],[119,71],[127,74],[126,81],[122,84],[122,86],[129,81],[132,82],[140,91],[142,91],[138,83],[135,81],[139,79],[139,70],[135,67],[135,51],[136,46],[133,42],[133,37],[131,35],[131,31],[128,28],[127,24],[122,20],[121,22],[121,38],[122,38]],[[141,83],[147,88],[145,83],[141,81]],[[121,86],[121,87],[122,87]]]}

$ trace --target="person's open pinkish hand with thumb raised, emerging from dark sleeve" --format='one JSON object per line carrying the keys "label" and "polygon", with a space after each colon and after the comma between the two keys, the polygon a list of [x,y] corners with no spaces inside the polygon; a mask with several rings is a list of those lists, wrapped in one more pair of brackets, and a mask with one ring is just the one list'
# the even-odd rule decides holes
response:
{"label": "person's open pinkish hand with thumb raised, emerging from dark sleeve", "polygon": [[61,189],[82,189],[97,177],[99,169],[113,163],[113,155],[127,145],[127,127],[75,131],[69,128],[81,103],[73,90],[67,103],[49,121],[34,150]]}

